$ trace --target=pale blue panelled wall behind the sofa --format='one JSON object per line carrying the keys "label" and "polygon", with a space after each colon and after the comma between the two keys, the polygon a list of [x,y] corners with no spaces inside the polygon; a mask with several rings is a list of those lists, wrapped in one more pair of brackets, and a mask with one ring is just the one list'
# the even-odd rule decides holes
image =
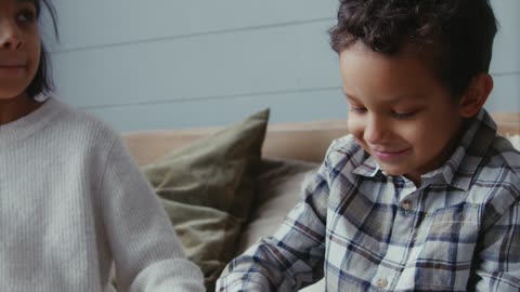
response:
{"label": "pale blue panelled wall behind the sofa", "polygon": [[[491,110],[520,111],[519,0],[502,24]],[[60,98],[120,131],[223,125],[264,107],[272,122],[343,118],[326,29],[337,0],[55,0]]]}

